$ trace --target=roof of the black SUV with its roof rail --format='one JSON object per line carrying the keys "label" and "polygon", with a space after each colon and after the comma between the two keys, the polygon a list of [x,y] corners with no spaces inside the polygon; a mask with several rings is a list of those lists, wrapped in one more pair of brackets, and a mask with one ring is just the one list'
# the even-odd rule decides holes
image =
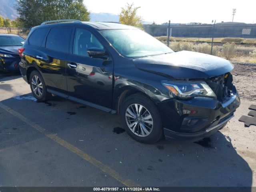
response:
{"label": "roof of the black SUV with its roof rail", "polygon": [[57,22],[57,23],[49,23],[49,24],[42,24],[38,27],[56,27],[56,26],[63,26],[63,25],[87,25],[90,26],[96,30],[107,30],[107,29],[138,29],[133,26],[124,25],[120,23],[114,23],[114,22]]}

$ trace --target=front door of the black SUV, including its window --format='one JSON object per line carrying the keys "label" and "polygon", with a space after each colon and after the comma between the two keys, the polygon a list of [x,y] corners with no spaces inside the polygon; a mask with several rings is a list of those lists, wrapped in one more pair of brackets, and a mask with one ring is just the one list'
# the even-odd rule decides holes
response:
{"label": "front door of the black SUV, including its window", "polygon": [[91,31],[75,28],[72,52],[68,55],[66,66],[68,95],[72,100],[90,102],[91,105],[96,104],[95,107],[109,111],[112,106],[114,64],[110,56],[108,60],[90,58],[87,49],[91,47],[105,49]]}

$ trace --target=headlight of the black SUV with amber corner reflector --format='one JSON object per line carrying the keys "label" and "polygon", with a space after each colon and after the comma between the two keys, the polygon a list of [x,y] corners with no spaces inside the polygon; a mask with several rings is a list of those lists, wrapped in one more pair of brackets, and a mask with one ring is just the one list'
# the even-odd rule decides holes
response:
{"label": "headlight of the black SUV with amber corner reflector", "polygon": [[216,98],[215,93],[205,82],[162,82],[162,84],[179,98],[196,96]]}

